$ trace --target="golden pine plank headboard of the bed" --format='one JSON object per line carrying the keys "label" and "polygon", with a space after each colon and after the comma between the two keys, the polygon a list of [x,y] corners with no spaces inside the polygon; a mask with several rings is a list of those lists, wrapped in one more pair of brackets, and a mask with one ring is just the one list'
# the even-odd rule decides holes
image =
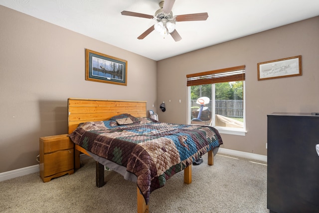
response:
{"label": "golden pine plank headboard of the bed", "polygon": [[109,120],[123,113],[135,117],[147,117],[146,101],[69,98],[68,134],[72,133],[80,123]]}

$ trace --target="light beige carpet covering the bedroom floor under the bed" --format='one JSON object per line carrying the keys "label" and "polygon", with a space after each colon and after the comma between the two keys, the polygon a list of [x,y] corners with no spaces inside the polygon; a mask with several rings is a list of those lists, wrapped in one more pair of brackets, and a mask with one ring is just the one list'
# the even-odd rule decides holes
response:
{"label": "light beige carpet covering the bedroom floor under the bed", "polygon": [[[192,183],[183,172],[150,197],[150,213],[269,213],[267,166],[217,154],[214,165],[192,166]],[[85,160],[73,175],[43,183],[39,173],[0,182],[3,213],[134,213],[137,186],[114,171],[95,186],[95,162]],[[258,162],[263,163],[263,162]]]}

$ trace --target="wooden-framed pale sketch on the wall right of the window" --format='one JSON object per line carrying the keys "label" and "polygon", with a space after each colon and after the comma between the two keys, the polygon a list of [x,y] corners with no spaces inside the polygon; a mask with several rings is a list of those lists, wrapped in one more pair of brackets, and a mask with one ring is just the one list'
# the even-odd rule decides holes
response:
{"label": "wooden-framed pale sketch on the wall right of the window", "polygon": [[301,55],[257,64],[258,80],[302,75]]}

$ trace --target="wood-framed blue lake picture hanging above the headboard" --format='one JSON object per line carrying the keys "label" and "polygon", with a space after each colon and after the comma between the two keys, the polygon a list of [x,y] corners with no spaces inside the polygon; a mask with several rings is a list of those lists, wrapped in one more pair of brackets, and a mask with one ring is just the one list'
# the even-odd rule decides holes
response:
{"label": "wood-framed blue lake picture hanging above the headboard", "polygon": [[127,86],[127,61],[89,49],[85,51],[85,80]]}

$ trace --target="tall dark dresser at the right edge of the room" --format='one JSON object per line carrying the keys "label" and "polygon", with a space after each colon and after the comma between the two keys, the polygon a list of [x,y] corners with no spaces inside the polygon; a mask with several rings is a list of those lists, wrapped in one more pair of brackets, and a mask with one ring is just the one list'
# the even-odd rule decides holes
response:
{"label": "tall dark dresser at the right edge of the room", "polygon": [[319,213],[319,116],[273,113],[267,125],[267,208]]}

